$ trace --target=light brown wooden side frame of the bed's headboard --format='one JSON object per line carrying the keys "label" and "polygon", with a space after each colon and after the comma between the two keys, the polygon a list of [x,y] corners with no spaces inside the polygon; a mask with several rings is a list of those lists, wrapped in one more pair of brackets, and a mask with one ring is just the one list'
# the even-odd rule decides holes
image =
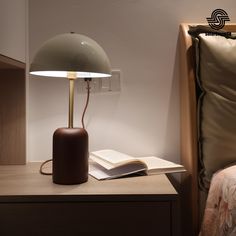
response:
{"label": "light brown wooden side frame of the bed's headboard", "polygon": [[[186,168],[182,174],[182,222],[183,235],[198,235],[199,232],[199,188],[198,188],[198,144],[197,144],[197,97],[195,59],[189,25],[181,24],[179,31],[180,50],[180,113],[181,113],[181,161]],[[236,24],[224,27],[236,31]]]}

